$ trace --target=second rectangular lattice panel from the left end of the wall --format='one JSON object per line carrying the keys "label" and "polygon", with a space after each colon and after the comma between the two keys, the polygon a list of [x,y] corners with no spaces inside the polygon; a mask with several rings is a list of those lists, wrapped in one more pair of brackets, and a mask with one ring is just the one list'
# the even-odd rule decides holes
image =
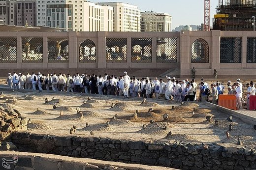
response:
{"label": "second rectangular lattice panel from the left end of the wall", "polygon": [[43,38],[22,38],[22,62],[43,62]]}

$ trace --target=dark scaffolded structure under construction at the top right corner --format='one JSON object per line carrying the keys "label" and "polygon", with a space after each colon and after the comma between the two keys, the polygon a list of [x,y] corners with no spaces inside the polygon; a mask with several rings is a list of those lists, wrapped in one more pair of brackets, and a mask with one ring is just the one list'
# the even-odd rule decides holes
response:
{"label": "dark scaffolded structure under construction at the top right corner", "polygon": [[254,30],[256,0],[219,0],[213,19],[213,29]]}

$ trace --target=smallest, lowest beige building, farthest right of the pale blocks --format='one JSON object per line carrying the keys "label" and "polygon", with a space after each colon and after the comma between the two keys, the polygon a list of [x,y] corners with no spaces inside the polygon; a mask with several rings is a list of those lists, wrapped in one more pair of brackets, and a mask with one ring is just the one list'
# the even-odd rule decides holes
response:
{"label": "smallest, lowest beige building, farthest right of the pale blocks", "polygon": [[172,17],[167,13],[141,12],[141,31],[171,31]]}

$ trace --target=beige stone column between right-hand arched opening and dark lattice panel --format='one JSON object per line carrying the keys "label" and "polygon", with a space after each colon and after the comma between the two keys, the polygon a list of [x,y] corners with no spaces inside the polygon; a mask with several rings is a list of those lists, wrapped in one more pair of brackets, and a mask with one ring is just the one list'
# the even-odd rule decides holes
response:
{"label": "beige stone column between right-hand arched opening and dark lattice panel", "polygon": [[221,31],[211,30],[212,32],[212,70],[221,68]]}

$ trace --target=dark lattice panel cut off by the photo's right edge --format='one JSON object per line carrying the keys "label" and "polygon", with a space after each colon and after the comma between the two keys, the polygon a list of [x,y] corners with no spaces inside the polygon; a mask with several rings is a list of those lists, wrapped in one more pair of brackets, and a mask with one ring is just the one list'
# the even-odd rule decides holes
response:
{"label": "dark lattice panel cut off by the photo's right edge", "polygon": [[256,63],[256,37],[247,37],[247,63]]}

